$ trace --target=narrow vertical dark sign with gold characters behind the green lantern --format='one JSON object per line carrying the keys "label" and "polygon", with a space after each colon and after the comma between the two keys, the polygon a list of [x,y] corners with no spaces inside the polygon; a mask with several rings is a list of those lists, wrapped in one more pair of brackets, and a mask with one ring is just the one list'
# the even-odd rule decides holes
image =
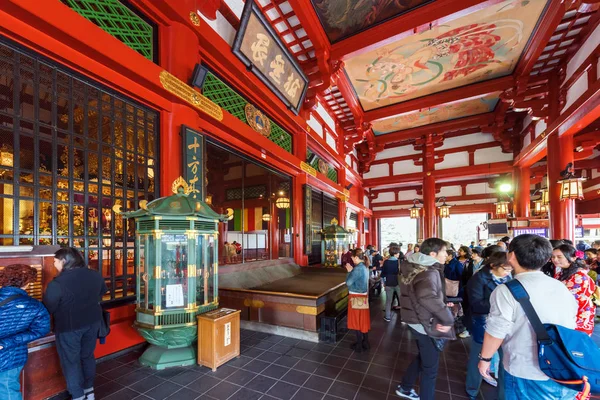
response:
{"label": "narrow vertical dark sign with gold characters behind the green lantern", "polygon": [[190,196],[204,201],[204,136],[193,129],[181,128],[183,179],[191,188]]}

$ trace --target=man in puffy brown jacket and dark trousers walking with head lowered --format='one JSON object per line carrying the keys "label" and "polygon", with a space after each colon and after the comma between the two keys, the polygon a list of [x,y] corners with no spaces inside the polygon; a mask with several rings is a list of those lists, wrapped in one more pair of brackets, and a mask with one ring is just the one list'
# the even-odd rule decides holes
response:
{"label": "man in puffy brown jacket and dark trousers walking with head lowered", "polygon": [[440,361],[434,340],[456,338],[444,287],[446,247],[442,239],[427,239],[421,244],[420,253],[411,254],[400,266],[402,320],[416,336],[419,349],[396,390],[405,399],[419,399],[413,387],[421,375],[420,398],[433,400]]}

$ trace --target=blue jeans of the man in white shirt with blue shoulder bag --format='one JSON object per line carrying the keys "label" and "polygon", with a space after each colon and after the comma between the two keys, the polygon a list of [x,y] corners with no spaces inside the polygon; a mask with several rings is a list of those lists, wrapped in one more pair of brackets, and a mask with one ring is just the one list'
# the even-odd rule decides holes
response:
{"label": "blue jeans of the man in white shirt with blue shoulder bag", "polygon": [[504,372],[504,393],[506,400],[523,399],[527,393],[527,400],[573,400],[577,396],[575,390],[568,389],[552,379],[547,381],[533,381],[517,378]]}

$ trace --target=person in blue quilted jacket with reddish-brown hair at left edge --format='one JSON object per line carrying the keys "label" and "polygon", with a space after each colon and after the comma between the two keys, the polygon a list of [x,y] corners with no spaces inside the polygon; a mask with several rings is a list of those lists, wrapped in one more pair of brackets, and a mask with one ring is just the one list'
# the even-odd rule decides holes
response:
{"label": "person in blue quilted jacket with reddish-brown hair at left edge", "polygon": [[19,375],[27,362],[27,344],[50,331],[50,315],[25,291],[37,271],[14,264],[0,271],[0,399],[21,400]]}

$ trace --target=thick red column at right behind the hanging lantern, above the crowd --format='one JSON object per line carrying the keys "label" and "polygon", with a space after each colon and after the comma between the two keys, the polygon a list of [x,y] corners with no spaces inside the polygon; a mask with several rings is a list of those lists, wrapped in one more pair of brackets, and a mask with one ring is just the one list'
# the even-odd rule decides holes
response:
{"label": "thick red column at right behind the hanging lantern, above the crowd", "polygon": [[575,240],[575,200],[560,200],[560,172],[573,163],[573,136],[552,135],[548,139],[548,189],[550,194],[550,238]]}

